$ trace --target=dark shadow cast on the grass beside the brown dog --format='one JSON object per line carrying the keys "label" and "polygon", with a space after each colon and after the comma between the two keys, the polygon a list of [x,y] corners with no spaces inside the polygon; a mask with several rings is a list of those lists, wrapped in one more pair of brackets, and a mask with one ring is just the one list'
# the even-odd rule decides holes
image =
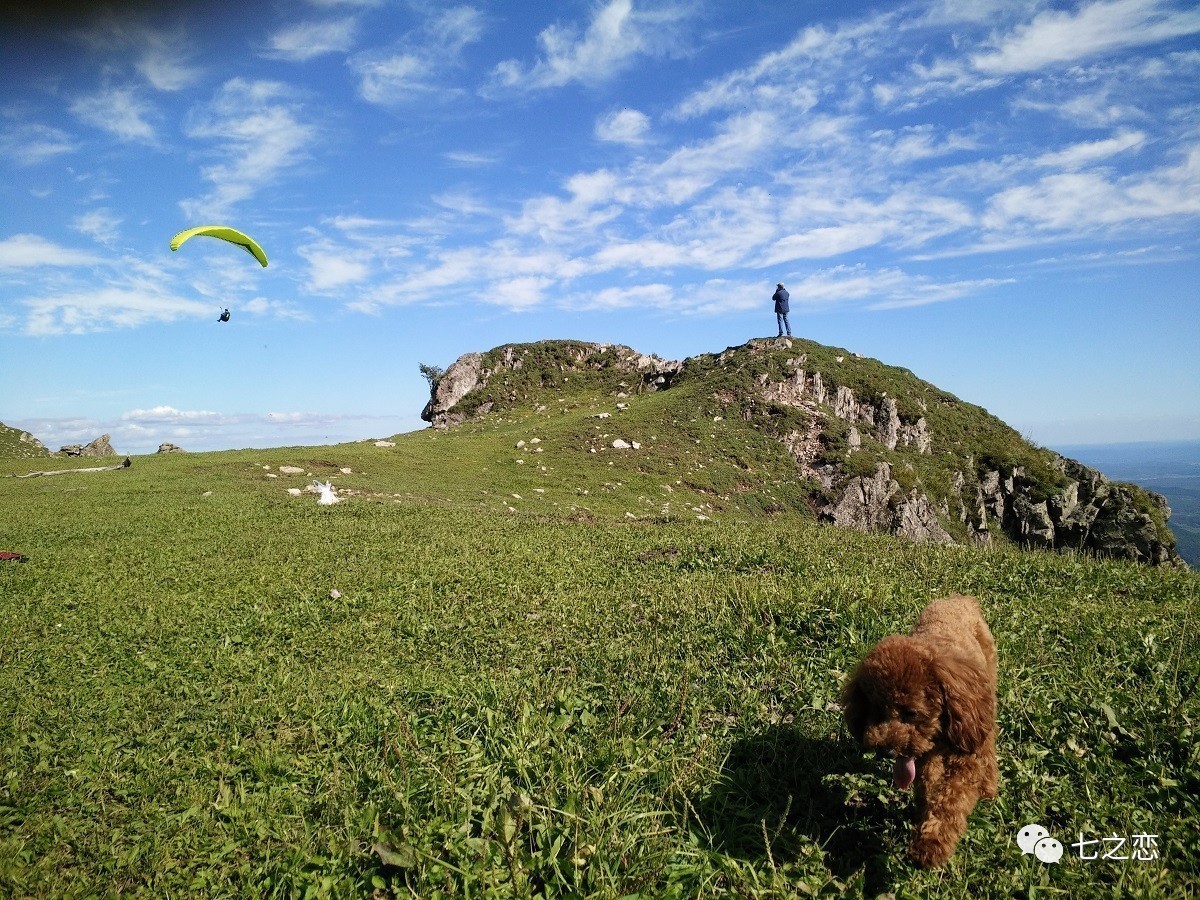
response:
{"label": "dark shadow cast on the grass beside the brown dog", "polygon": [[880,800],[877,768],[848,739],[772,726],[733,745],[720,778],[694,808],[716,852],[800,865],[802,857],[820,856],[833,875],[862,877],[863,890],[875,895],[893,877],[888,864],[895,854],[884,852],[884,836],[907,828],[904,811]]}

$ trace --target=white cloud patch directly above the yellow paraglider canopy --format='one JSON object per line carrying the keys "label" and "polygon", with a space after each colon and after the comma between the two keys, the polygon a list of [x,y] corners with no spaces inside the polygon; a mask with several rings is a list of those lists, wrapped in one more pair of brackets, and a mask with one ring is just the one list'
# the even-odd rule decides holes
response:
{"label": "white cloud patch directly above the yellow paraglider canopy", "polygon": [[218,162],[200,170],[212,191],[180,203],[185,216],[221,217],[306,160],[318,131],[300,113],[290,90],[277,82],[226,82],[186,126],[190,138],[214,142],[209,155]]}

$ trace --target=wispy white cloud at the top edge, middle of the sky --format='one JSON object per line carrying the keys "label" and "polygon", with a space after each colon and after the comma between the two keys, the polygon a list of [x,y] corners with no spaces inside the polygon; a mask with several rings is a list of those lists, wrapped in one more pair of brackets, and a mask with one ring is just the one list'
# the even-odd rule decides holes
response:
{"label": "wispy white cloud at the top edge, middle of the sky", "polygon": [[641,56],[662,56],[683,49],[679,26],[691,16],[684,6],[635,10],[632,0],[608,0],[581,34],[574,25],[551,25],[538,35],[541,53],[529,67],[518,60],[500,62],[493,83],[538,90],[571,82],[612,78]]}

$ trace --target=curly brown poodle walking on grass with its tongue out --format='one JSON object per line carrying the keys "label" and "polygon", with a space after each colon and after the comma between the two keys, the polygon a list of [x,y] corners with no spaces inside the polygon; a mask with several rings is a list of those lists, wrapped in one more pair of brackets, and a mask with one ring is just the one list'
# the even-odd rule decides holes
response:
{"label": "curly brown poodle walking on grass with its tongue out", "polygon": [[980,797],[994,799],[996,644],[972,596],[935,600],[911,635],[880,641],[841,695],[846,725],[864,748],[895,758],[893,784],[916,784],[910,856],[946,863]]}

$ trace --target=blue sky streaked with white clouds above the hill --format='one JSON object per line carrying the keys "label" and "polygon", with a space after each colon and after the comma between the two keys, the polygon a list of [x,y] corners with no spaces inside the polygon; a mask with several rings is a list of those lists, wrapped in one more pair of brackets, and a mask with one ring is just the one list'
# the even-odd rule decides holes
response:
{"label": "blue sky streaked with white clouds above the hill", "polygon": [[0,20],[0,420],[52,449],[383,437],[420,362],[720,350],[776,281],[1039,443],[1200,438],[1193,4],[88,6]]}

